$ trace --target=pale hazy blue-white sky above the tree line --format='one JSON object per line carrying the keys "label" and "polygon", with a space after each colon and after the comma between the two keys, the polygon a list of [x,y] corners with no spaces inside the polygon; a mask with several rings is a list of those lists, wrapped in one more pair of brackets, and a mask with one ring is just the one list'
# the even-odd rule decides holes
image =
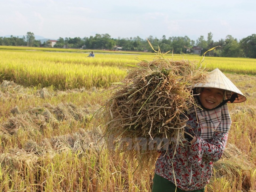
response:
{"label": "pale hazy blue-white sky above the tree line", "polygon": [[238,41],[256,33],[255,0],[0,0],[0,36],[48,39],[189,37]]}

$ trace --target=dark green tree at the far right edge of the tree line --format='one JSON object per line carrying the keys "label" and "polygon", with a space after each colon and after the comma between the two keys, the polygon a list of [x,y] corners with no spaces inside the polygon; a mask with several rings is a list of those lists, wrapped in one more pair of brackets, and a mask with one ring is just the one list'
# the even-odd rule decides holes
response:
{"label": "dark green tree at the far right edge of the tree line", "polygon": [[240,41],[245,57],[256,58],[256,34],[252,34]]}

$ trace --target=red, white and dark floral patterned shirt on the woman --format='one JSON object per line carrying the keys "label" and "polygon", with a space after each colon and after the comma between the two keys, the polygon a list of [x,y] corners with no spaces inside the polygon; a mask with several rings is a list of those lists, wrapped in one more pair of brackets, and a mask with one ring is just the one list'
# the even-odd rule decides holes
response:
{"label": "red, white and dark floral patterned shirt on the woman", "polygon": [[[189,118],[187,125],[193,129],[197,141],[193,144],[183,141],[177,146],[170,145],[167,153],[161,151],[155,165],[156,174],[173,182],[184,191],[202,189],[209,183],[213,162],[218,161],[223,154],[231,124],[227,111],[224,118],[224,122],[228,119],[226,131],[215,130],[211,138],[202,139],[200,137],[202,128],[200,123],[197,123],[195,114],[194,111],[186,116]],[[227,116],[229,118],[226,118]]]}

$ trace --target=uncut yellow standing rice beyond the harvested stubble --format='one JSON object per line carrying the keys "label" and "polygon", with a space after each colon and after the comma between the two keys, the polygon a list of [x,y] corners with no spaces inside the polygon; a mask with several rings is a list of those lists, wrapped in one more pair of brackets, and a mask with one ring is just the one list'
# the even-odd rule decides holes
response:
{"label": "uncut yellow standing rice beyond the harvested stubble", "polygon": [[[58,90],[108,87],[126,75],[126,69],[140,60],[152,60],[155,54],[96,54],[0,49],[0,81],[14,81],[24,86]],[[197,55],[165,57],[199,60]],[[209,70],[218,67],[226,73],[256,75],[256,59],[207,57],[203,65]]]}

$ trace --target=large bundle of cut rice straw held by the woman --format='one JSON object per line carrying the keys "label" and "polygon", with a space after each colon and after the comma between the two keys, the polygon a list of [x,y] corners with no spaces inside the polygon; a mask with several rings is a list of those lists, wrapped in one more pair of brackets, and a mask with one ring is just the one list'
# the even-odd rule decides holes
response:
{"label": "large bundle of cut rice straw held by the woman", "polygon": [[[204,82],[205,77],[205,70],[197,61],[158,57],[139,62],[116,84],[103,106],[109,146],[134,154],[138,149],[156,152],[163,144],[155,143],[157,139],[177,144],[183,139],[182,128],[187,121],[179,116],[193,106],[193,85]],[[118,148],[113,139],[119,141]]]}

